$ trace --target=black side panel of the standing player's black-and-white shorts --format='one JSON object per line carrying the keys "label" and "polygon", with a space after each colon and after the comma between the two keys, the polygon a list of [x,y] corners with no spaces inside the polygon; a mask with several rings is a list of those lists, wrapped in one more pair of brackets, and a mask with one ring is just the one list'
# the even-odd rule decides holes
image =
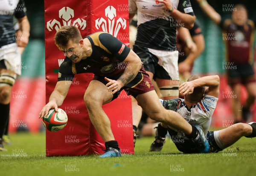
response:
{"label": "black side panel of the standing player's black-and-white shorts", "polygon": [[158,64],[158,58],[148,51],[148,48],[140,45],[134,45],[133,51],[140,57],[145,71],[149,71],[154,74],[153,79],[172,79],[168,72]]}

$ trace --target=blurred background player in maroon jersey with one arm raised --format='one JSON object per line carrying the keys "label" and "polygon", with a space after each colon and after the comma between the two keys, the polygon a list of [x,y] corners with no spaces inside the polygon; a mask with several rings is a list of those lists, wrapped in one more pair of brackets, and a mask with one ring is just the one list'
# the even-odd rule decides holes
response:
{"label": "blurred background player in maroon jersey with one arm raised", "polygon": [[[248,20],[247,9],[242,4],[234,6],[232,20],[224,20],[206,0],[197,0],[205,14],[223,29],[223,40],[226,46],[226,60],[233,63],[236,69],[227,69],[228,84],[233,94],[237,95],[232,99],[232,111],[234,123],[244,121],[250,116],[250,107],[256,97],[256,82],[253,71],[253,46],[255,24]],[[233,36],[233,37],[228,37]],[[244,85],[248,98],[241,110],[241,85]]]}

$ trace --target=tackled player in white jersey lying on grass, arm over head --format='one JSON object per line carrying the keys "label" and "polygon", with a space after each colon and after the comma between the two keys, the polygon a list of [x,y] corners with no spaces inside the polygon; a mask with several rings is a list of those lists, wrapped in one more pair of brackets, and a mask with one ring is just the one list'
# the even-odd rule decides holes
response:
{"label": "tackled player in white jersey lying on grass, arm over head", "polygon": [[[184,94],[184,99],[160,99],[160,102],[164,108],[179,113],[191,125],[201,125],[210,145],[209,152],[221,151],[233,145],[242,136],[256,137],[256,122],[237,123],[223,130],[208,131],[213,111],[218,102],[218,75],[201,78],[192,76],[187,82],[180,85],[179,91]],[[183,153],[199,153],[193,142],[186,138],[183,131],[163,123],[157,127],[157,136],[151,144],[150,151],[160,151],[163,148],[167,130],[178,150]]]}

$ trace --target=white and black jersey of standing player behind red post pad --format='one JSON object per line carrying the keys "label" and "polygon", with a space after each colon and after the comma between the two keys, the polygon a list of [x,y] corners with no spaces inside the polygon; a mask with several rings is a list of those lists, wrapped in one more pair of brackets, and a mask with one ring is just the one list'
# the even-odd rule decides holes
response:
{"label": "white and black jersey of standing player behind red post pad", "polygon": [[[172,0],[172,5],[178,11],[194,15],[190,0]],[[176,28],[184,24],[173,19],[163,3],[157,0],[129,0],[129,8],[129,13],[137,12],[138,17],[135,44],[157,50],[176,50]]]}

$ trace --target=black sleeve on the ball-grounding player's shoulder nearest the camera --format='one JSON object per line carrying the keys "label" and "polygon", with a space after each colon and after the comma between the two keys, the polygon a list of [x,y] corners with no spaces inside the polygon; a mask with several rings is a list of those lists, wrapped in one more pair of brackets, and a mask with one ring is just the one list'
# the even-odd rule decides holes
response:
{"label": "black sleeve on the ball-grounding player's shoulder nearest the camera", "polygon": [[130,48],[111,34],[99,34],[99,42],[119,61],[124,61],[130,52]]}

